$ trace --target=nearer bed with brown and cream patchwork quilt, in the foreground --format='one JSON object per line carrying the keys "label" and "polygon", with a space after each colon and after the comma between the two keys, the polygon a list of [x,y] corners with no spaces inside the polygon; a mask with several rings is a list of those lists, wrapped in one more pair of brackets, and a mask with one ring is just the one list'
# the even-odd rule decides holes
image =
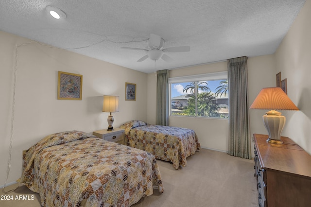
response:
{"label": "nearer bed with brown and cream patchwork quilt, in the foreground", "polygon": [[17,180],[42,206],[129,207],[164,191],[155,156],[81,131],[49,135],[23,151]]}

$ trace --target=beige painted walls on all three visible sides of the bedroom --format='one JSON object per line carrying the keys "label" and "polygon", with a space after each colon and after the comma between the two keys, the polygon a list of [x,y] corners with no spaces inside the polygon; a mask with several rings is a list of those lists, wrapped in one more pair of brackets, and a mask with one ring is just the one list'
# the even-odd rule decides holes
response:
{"label": "beige painted walls on all three visible sides of the bedroom", "polygon": [[[311,153],[311,0],[307,0],[276,54],[248,58],[249,104],[262,87],[276,85],[281,71],[287,78],[288,96],[300,111],[282,111],[287,118],[283,136]],[[10,146],[15,46],[30,40],[0,32],[0,186],[4,184]],[[57,71],[83,75],[82,101],[57,100]],[[170,77],[224,71],[226,63],[170,70]],[[137,84],[137,100],[124,101],[124,83]],[[102,112],[103,95],[120,96],[120,112],[114,126],[139,119],[155,123],[155,73],[145,74],[73,52],[31,43],[20,46],[17,56],[17,85],[11,172],[8,183],[21,174],[22,150],[44,136],[64,130],[91,133],[107,127]],[[261,116],[265,110],[250,110],[251,134],[266,134]],[[228,121],[170,117],[172,126],[194,129],[202,147],[228,150]]]}

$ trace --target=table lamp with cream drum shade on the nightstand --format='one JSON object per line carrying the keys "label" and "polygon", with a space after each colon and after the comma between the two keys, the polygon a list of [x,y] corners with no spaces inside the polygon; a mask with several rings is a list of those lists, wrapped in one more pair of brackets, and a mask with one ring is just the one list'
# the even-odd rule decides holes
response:
{"label": "table lamp with cream drum shade on the nightstand", "polygon": [[113,130],[113,115],[111,115],[111,112],[118,112],[119,111],[119,96],[104,96],[104,102],[103,102],[103,112],[110,112],[110,115],[108,115],[108,131]]}

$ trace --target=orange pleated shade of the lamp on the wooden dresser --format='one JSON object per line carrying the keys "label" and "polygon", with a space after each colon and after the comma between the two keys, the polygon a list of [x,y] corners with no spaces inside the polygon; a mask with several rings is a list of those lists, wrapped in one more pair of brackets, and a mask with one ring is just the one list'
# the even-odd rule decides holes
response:
{"label": "orange pleated shade of the lamp on the wooden dresser", "polygon": [[250,109],[299,110],[280,87],[262,88]]}

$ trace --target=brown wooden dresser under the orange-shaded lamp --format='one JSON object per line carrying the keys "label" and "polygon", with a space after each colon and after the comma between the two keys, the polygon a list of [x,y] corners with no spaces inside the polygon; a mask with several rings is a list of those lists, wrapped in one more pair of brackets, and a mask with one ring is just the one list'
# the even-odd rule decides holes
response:
{"label": "brown wooden dresser under the orange-shaded lamp", "polygon": [[267,138],[254,134],[259,207],[311,207],[311,155],[288,137]]}

